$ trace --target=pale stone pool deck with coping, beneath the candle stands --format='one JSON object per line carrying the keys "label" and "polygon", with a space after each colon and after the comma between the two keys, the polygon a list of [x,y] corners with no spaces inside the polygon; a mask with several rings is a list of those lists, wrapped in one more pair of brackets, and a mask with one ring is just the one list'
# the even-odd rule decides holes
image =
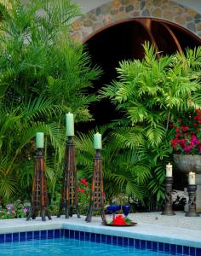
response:
{"label": "pale stone pool deck with coping, beneath the candle stands", "polygon": [[[109,217],[107,217],[109,218]],[[41,218],[26,221],[25,218],[0,220],[0,234],[33,230],[78,230],[89,233],[135,238],[143,241],[158,241],[184,247],[201,248],[201,217],[185,217],[184,212],[164,216],[160,212],[130,214],[137,225],[111,227],[101,224],[99,217],[86,223],[84,217],[56,218],[43,222]],[[201,254],[200,254],[201,255]]]}

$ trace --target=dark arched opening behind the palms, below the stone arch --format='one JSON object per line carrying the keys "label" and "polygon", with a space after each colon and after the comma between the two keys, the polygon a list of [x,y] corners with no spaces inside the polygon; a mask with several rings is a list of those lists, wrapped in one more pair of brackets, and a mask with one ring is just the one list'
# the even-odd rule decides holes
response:
{"label": "dark arched opening behind the palms, below the stone arch", "polygon": [[[137,18],[106,27],[85,42],[93,64],[99,65],[103,70],[101,78],[94,83],[93,91],[100,90],[104,85],[110,84],[112,79],[116,79],[115,68],[119,61],[142,59],[142,44],[145,41],[150,41],[164,55],[201,44],[201,39],[192,32],[164,20]],[[115,107],[106,99],[92,104],[90,111],[95,121],[88,124],[87,128],[105,125],[112,119],[119,118]]]}

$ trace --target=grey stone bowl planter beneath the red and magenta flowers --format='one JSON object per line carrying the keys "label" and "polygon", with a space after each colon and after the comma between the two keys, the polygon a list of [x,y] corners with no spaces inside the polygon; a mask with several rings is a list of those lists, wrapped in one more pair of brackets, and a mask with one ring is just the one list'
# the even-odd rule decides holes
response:
{"label": "grey stone bowl planter beneath the red and magenta flowers", "polygon": [[201,174],[201,155],[199,154],[174,154],[175,165],[181,172],[196,172]]}

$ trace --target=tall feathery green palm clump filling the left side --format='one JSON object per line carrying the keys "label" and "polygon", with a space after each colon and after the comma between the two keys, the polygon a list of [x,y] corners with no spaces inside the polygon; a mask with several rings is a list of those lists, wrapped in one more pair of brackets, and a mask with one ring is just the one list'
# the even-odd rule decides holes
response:
{"label": "tall feathery green palm clump filling the left side", "polygon": [[[100,75],[81,44],[68,37],[78,6],[68,0],[0,5],[0,201],[30,195],[34,137],[46,135],[49,192],[60,178],[66,140],[64,117],[91,119],[87,94]],[[19,188],[20,186],[20,188]]]}

